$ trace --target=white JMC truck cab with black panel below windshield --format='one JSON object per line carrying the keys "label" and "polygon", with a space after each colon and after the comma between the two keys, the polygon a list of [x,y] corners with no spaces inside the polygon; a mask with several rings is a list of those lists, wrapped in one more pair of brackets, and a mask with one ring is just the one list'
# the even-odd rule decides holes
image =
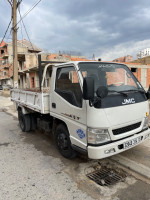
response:
{"label": "white JMC truck cab with black panel below windshield", "polygon": [[[149,138],[149,92],[126,65],[56,65],[51,81],[50,115],[65,123],[72,149],[101,159]],[[62,133],[60,151],[67,149],[66,141]]]}

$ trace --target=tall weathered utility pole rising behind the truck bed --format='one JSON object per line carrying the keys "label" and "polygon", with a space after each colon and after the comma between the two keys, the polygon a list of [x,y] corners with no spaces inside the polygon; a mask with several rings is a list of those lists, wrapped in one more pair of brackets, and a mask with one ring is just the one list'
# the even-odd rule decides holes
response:
{"label": "tall weathered utility pole rising behind the truck bed", "polygon": [[12,8],[12,17],[13,17],[13,86],[14,88],[18,88],[18,58],[17,58],[17,2],[13,0],[13,8]]}

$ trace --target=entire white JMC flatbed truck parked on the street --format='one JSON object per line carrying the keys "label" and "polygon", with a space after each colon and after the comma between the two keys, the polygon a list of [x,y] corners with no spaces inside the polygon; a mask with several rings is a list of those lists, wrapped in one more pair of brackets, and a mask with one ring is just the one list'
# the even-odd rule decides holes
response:
{"label": "entire white JMC flatbed truck parked on the street", "polygon": [[60,153],[91,159],[121,153],[150,137],[150,90],[124,64],[68,62],[52,67],[49,90],[12,89],[22,131],[41,126],[52,132]]}

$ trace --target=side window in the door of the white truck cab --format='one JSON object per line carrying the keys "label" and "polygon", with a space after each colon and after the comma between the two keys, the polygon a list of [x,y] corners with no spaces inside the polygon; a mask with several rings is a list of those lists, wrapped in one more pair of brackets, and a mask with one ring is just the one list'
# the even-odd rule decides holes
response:
{"label": "side window in the door of the white truck cab", "polygon": [[74,67],[57,69],[55,92],[70,104],[82,107],[82,91]]}

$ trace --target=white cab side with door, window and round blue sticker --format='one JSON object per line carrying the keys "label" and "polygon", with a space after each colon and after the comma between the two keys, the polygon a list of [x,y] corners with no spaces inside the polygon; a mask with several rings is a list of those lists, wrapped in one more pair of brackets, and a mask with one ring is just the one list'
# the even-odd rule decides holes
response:
{"label": "white cab side with door, window and round blue sticker", "polygon": [[74,66],[56,70],[55,86],[50,95],[51,115],[67,124],[72,144],[83,149],[86,139],[86,102]]}

